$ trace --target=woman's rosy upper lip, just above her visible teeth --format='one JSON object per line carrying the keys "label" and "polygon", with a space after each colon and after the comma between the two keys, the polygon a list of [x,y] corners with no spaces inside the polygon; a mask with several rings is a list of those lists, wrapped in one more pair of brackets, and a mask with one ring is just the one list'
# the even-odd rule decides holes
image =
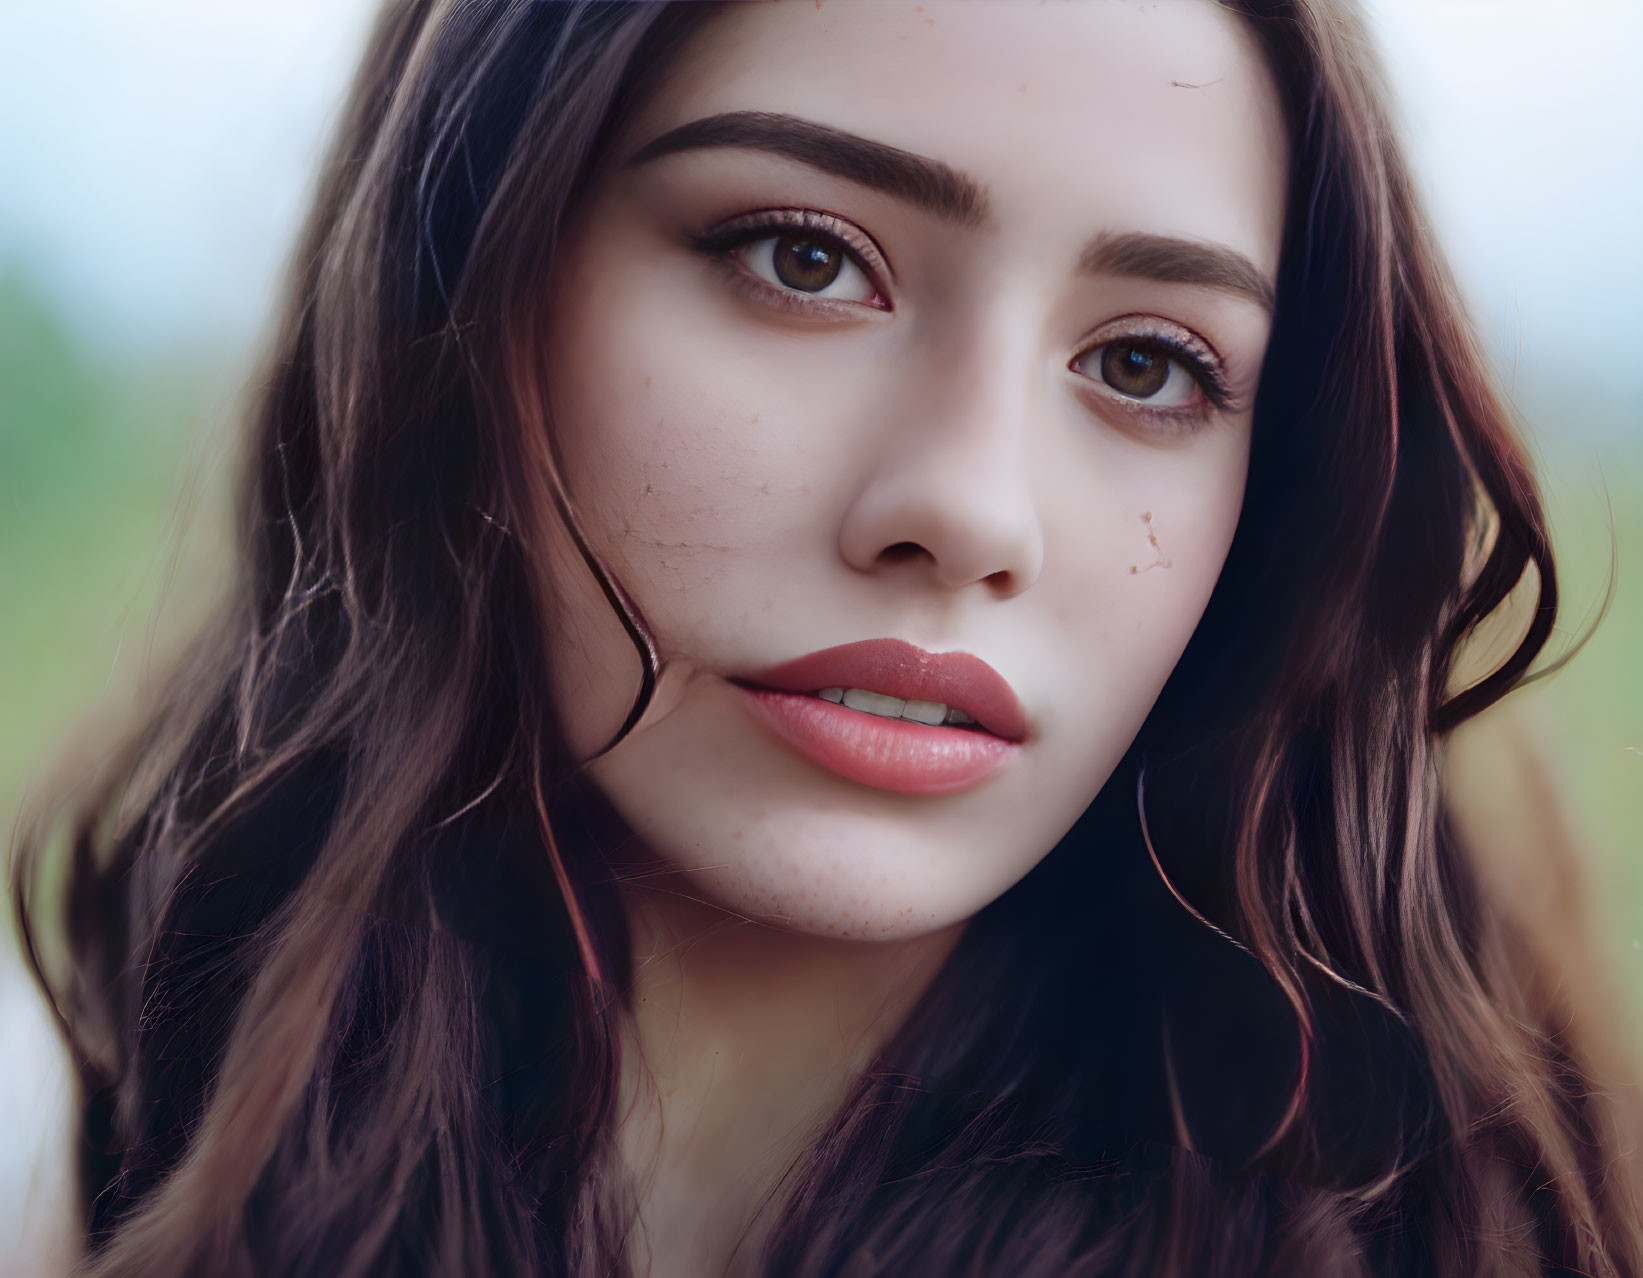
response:
{"label": "woman's rosy upper lip, just above her visible teeth", "polygon": [[1006,741],[1027,736],[1027,713],[1004,675],[969,652],[925,652],[905,639],[863,639],[825,647],[741,682],[777,692],[866,688],[902,700],[963,710]]}

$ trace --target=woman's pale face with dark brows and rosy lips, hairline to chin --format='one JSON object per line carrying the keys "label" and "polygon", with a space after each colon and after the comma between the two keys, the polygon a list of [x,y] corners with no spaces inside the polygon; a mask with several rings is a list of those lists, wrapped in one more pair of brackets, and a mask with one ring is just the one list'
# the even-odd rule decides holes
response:
{"label": "woman's pale face with dark brows and rosy lips, hairline to chin", "polygon": [[[687,43],[547,352],[565,488],[667,659],[590,775],[674,885],[907,938],[1066,833],[1237,524],[1285,168],[1208,2],[744,3]],[[637,662],[567,545],[591,754]]]}

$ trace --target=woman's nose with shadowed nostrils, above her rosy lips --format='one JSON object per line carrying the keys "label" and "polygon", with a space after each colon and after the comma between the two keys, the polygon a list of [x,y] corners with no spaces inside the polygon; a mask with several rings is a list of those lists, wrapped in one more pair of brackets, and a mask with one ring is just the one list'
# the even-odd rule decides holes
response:
{"label": "woman's nose with shadowed nostrils, above her rosy lips", "polygon": [[922,573],[943,590],[984,583],[1009,598],[1037,582],[1043,567],[1030,388],[994,370],[953,379],[946,391],[918,407],[904,401],[905,411],[884,422],[840,526],[840,554],[859,572]]}

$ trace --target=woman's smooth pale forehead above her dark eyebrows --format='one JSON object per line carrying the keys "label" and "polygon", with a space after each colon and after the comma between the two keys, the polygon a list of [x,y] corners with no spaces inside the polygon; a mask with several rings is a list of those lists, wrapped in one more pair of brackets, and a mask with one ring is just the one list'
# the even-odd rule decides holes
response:
{"label": "woman's smooth pale forehead above her dark eyebrows", "polygon": [[764,0],[685,44],[634,131],[779,112],[940,159],[1002,232],[1147,230],[1277,269],[1286,138],[1213,0]]}

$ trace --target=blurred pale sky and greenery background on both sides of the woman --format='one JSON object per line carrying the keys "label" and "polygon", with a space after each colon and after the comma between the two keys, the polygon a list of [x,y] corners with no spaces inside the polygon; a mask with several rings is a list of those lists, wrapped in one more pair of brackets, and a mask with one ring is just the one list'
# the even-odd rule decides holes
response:
{"label": "blurred pale sky and greenery background on both sides of the woman", "polygon": [[[373,8],[0,0],[0,833],[72,718],[141,673],[168,537],[179,509],[212,508],[207,440],[232,432]],[[1535,695],[1643,1009],[1643,0],[1369,8],[1433,220],[1544,462],[1564,641],[1613,529],[1612,614]],[[44,1064],[8,1073],[41,1032],[16,989],[0,964],[0,1132],[59,1086]],[[39,1193],[21,1148],[0,1153],[0,1240]]]}

